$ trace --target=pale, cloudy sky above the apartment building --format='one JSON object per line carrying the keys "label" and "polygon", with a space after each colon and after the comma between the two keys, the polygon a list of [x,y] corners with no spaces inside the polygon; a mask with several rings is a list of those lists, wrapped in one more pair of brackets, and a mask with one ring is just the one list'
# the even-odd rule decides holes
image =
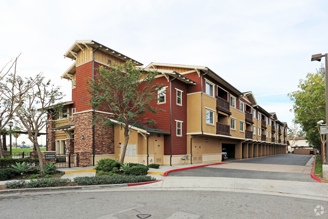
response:
{"label": "pale, cloudy sky above the apartment building", "polygon": [[[239,91],[252,91],[262,108],[291,126],[287,94],[324,64],[310,60],[328,53],[327,21],[322,0],[2,0],[0,67],[22,53],[18,74],[43,72],[69,101],[71,83],[61,75],[73,62],[64,54],[75,40],[93,39],[144,66],[206,66]],[[31,144],[26,136],[22,141]]]}

